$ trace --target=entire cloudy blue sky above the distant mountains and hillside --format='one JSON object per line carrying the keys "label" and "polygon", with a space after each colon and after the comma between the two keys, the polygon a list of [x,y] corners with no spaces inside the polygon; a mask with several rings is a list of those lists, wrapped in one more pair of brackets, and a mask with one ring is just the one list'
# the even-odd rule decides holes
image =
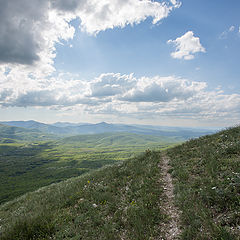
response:
{"label": "entire cloudy blue sky above the distant mountains and hillside", "polygon": [[240,122],[239,0],[0,0],[0,121]]}

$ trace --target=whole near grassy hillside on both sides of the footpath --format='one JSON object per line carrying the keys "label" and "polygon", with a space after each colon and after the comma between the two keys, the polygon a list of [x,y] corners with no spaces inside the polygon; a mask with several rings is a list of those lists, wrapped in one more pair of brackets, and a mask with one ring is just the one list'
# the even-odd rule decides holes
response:
{"label": "whole near grassy hillside on both sides of the footpath", "polygon": [[[180,239],[239,239],[240,127],[165,150]],[[53,184],[0,206],[1,240],[166,239],[161,152]]]}

